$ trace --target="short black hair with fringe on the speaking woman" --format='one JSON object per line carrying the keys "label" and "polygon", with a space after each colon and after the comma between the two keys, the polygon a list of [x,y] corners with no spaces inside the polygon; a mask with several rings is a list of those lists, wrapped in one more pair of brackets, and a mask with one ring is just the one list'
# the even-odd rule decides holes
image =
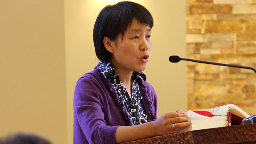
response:
{"label": "short black hair with fringe on the speaking woman", "polygon": [[140,4],[131,1],[122,1],[104,7],[99,13],[93,28],[93,43],[96,56],[99,60],[110,62],[112,54],[104,46],[103,39],[108,37],[116,40],[131,26],[133,18],[142,24],[153,27],[153,18],[150,12]]}

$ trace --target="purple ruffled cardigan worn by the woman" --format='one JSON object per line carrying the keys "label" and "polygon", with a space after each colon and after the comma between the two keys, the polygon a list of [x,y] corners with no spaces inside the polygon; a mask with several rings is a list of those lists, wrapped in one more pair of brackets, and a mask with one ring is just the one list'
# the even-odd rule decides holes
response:
{"label": "purple ruffled cardigan worn by the woman", "polygon": [[[157,120],[157,96],[148,82],[137,79],[146,115],[149,121]],[[74,92],[73,144],[116,143],[118,126],[132,125],[108,78],[94,68],[78,79]]]}

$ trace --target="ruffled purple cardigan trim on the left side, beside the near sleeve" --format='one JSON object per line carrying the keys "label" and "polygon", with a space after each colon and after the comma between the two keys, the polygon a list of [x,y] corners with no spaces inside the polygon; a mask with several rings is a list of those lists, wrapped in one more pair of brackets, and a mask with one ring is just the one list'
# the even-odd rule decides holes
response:
{"label": "ruffled purple cardigan trim on the left side, beside the near sleeve", "polygon": [[117,104],[118,104],[119,106],[121,106],[123,116],[124,116],[124,118],[125,118],[125,120],[126,120],[126,124],[127,124],[128,126],[132,126],[132,122],[131,122],[131,120],[129,119],[128,114],[127,114],[127,113],[125,112],[125,110],[124,110],[124,104],[121,103],[121,101],[119,100],[117,93],[116,93],[115,90],[113,89],[113,85],[111,84],[110,79],[109,79],[108,77],[105,78],[104,75],[101,73],[101,71],[99,70],[98,67],[94,67],[94,70],[97,72],[97,74],[98,74],[99,76],[102,77],[102,79],[104,80],[104,82],[105,82],[105,83],[107,84],[107,86],[109,87],[109,90],[110,90],[111,93],[113,94],[113,96],[114,96],[114,98],[115,98],[115,101],[117,102]]}

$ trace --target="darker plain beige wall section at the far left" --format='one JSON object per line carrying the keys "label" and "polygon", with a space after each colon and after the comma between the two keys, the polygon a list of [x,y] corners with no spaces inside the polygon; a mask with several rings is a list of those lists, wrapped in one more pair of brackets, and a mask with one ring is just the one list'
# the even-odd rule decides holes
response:
{"label": "darker plain beige wall section at the far left", "polygon": [[0,1],[0,136],[66,143],[64,1]]}

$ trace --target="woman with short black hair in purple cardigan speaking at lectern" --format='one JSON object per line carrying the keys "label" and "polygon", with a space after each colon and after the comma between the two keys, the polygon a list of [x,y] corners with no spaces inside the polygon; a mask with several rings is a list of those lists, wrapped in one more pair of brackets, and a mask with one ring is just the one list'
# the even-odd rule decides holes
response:
{"label": "woman with short black hair in purple cardigan speaking at lectern", "polygon": [[157,96],[146,82],[153,19],[140,4],[119,2],[99,13],[93,42],[99,58],[74,93],[74,144],[123,143],[177,130],[191,123],[185,112],[157,119]]}

